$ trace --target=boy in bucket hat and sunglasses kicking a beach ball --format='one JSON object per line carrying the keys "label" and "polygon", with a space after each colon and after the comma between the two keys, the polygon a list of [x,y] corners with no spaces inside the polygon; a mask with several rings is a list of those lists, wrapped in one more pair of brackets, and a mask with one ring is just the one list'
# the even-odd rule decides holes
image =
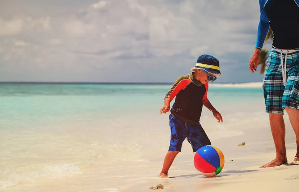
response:
{"label": "boy in bucket hat and sunglasses kicking a beach ball", "polygon": [[221,114],[212,106],[207,98],[208,81],[221,77],[219,61],[211,55],[201,55],[189,75],[180,76],[173,84],[164,99],[160,113],[170,110],[170,102],[176,96],[169,115],[171,140],[168,153],[165,156],[160,177],[167,178],[168,170],[176,155],[181,151],[185,138],[191,144],[193,152],[200,147],[211,145],[205,131],[199,123],[202,106],[212,111],[218,122],[222,121]]}

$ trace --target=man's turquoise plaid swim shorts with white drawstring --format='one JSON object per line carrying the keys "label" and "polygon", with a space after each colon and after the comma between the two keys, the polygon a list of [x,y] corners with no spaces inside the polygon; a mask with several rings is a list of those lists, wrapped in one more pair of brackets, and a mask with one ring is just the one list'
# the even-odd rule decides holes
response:
{"label": "man's turquoise plaid swim shorts with white drawstring", "polygon": [[[281,58],[282,57],[282,58]],[[287,59],[287,61],[285,61]],[[282,62],[283,60],[283,62]],[[282,64],[286,62],[286,85]],[[284,108],[299,110],[299,51],[281,54],[271,49],[265,62],[263,94],[266,113],[284,113]]]}

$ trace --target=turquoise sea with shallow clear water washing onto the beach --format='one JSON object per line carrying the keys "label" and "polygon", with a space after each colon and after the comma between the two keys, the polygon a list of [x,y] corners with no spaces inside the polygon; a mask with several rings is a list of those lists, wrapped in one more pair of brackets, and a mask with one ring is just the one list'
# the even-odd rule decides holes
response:
{"label": "turquoise sea with shallow clear water washing onto the beach", "polygon": [[[116,165],[162,161],[169,127],[159,110],[171,86],[1,83],[0,189],[84,180],[86,173],[107,176],[95,181],[107,188]],[[208,98],[224,119],[219,124],[203,109],[201,124],[211,139],[242,134],[251,120],[268,123],[260,87],[211,84]]]}

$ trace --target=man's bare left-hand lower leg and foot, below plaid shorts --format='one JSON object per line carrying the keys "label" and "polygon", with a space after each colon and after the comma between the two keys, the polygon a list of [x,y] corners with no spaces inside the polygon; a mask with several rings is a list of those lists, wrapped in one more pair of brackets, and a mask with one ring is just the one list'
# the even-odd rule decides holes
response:
{"label": "man's bare left-hand lower leg and foot, below plaid shorts", "polygon": [[271,162],[261,166],[260,168],[265,167],[274,167],[281,164],[286,164],[286,145],[285,145],[285,123],[282,114],[270,113],[269,114],[270,127],[272,132],[272,137],[274,140],[276,158]]}

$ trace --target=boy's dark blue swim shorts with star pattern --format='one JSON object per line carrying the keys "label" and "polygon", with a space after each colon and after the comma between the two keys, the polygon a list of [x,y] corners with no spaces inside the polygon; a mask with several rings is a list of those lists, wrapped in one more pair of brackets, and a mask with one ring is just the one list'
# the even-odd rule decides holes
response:
{"label": "boy's dark blue swim shorts with star pattern", "polygon": [[200,123],[196,125],[188,124],[170,114],[169,125],[171,128],[171,138],[168,151],[181,151],[183,141],[186,138],[191,144],[193,152],[196,152],[205,145],[211,145],[211,141]]}

